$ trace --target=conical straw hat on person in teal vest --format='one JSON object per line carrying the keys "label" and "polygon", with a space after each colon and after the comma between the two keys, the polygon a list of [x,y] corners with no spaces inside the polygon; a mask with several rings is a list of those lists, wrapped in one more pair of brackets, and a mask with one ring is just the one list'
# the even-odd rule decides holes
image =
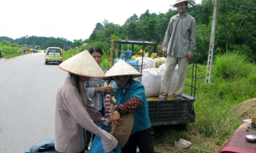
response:
{"label": "conical straw hat on person in teal vest", "polygon": [[105,77],[101,78],[102,80],[113,80],[111,77],[120,76],[120,75],[133,75],[133,78],[141,77],[142,74],[137,71],[132,65],[124,62],[119,59],[116,64],[105,73]]}

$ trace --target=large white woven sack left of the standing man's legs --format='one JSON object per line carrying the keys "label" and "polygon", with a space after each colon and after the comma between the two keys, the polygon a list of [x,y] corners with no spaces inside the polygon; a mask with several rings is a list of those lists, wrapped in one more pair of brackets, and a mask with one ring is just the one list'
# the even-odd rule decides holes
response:
{"label": "large white woven sack left of the standing man's legs", "polygon": [[147,97],[158,97],[161,88],[162,71],[159,68],[142,70],[142,85],[145,87]]}

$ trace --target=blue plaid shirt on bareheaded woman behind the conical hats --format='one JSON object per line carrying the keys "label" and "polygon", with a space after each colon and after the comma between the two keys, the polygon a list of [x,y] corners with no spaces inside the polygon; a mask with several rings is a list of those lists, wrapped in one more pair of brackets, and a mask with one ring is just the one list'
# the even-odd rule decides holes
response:
{"label": "blue plaid shirt on bareheaded woman behind the conical hats", "polygon": [[[104,71],[104,68],[99,65]],[[105,71],[104,71],[105,72]],[[95,88],[103,87],[104,81],[100,78],[91,78],[87,82],[84,83],[84,86],[87,89],[88,96],[92,99],[94,107],[100,111],[102,107],[104,107],[104,92],[95,92]]]}

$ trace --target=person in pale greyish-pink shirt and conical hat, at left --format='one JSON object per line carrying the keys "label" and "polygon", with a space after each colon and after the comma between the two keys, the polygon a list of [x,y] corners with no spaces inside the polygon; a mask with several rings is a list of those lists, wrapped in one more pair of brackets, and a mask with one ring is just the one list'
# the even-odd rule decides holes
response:
{"label": "person in pale greyish-pink shirt and conical hat, at left", "polygon": [[[63,61],[59,67],[68,71],[56,94],[55,149],[58,152],[84,152],[84,129],[101,137],[106,152],[117,146],[117,140],[99,125],[109,126],[109,120],[101,116],[87,94],[84,82],[101,78],[104,72],[88,50]],[[93,122],[96,122],[96,124]]]}

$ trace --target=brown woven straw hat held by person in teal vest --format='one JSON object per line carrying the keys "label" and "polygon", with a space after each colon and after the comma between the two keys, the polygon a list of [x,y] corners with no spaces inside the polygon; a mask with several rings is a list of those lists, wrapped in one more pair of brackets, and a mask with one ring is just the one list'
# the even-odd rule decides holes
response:
{"label": "brown woven straw hat held by person in teal vest", "polygon": [[110,134],[117,139],[119,146],[123,147],[132,133],[134,116],[133,113],[127,113],[121,115],[120,118],[123,120],[123,124],[115,124],[115,127],[110,131]]}

